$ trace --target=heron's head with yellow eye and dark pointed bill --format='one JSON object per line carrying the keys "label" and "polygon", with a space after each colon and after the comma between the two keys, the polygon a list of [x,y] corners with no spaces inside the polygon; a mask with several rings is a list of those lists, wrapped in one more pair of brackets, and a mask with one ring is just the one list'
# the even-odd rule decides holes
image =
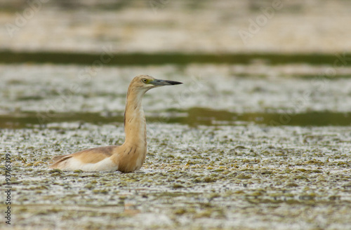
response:
{"label": "heron's head with yellow eye and dark pointed bill", "polygon": [[154,79],[152,76],[149,75],[138,75],[135,76],[135,78],[131,81],[129,88],[146,92],[147,90],[150,90],[152,88],[160,86],[172,86],[178,84],[182,84],[182,82]]}

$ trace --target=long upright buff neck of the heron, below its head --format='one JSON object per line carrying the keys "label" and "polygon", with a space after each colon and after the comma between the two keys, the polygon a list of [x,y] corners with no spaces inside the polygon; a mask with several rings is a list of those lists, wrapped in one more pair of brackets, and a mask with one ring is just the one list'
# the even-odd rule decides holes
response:
{"label": "long upright buff neck of the heron, below its head", "polygon": [[146,147],[146,120],[142,105],[145,92],[128,88],[126,110],[124,111],[124,133],[126,146]]}

